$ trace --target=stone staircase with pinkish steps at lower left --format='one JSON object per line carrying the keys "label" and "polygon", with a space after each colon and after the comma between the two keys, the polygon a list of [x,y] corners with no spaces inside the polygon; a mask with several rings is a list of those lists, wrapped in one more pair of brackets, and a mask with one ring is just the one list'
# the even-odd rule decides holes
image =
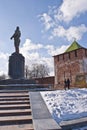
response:
{"label": "stone staircase with pinkish steps at lower left", "polygon": [[34,130],[28,91],[0,91],[0,130]]}

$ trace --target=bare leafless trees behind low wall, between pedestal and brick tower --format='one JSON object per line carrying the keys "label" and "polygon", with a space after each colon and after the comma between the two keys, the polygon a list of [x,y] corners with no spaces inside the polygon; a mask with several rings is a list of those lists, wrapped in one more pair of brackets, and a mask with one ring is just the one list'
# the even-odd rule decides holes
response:
{"label": "bare leafless trees behind low wall, between pedestal and brick tower", "polygon": [[49,75],[49,68],[44,64],[33,64],[32,68],[25,68],[26,78],[43,78]]}

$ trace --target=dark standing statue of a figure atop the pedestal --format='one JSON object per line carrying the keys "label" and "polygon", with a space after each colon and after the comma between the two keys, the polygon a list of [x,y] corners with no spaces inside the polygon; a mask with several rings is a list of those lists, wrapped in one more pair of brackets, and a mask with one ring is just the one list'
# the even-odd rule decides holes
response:
{"label": "dark standing statue of a figure atop the pedestal", "polygon": [[10,39],[14,38],[14,46],[15,46],[15,51],[19,53],[19,44],[20,44],[20,36],[21,32],[19,30],[19,27],[17,26],[15,33],[12,35]]}

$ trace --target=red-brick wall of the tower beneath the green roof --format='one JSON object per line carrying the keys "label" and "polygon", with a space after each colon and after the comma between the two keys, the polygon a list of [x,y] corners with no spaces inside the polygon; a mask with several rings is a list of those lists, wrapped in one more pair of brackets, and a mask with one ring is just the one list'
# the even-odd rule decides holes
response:
{"label": "red-brick wall of the tower beneath the green roof", "polygon": [[87,60],[87,49],[54,56],[55,87],[64,86],[64,80],[69,78],[71,86],[75,85],[76,75],[84,74],[84,59]]}

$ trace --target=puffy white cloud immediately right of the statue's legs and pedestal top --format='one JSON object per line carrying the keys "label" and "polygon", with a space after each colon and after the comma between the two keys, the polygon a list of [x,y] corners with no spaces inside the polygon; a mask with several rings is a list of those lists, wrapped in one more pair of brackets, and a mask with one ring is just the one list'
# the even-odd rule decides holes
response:
{"label": "puffy white cloud immediately right of the statue's legs and pedestal top", "polygon": [[31,66],[32,63],[37,62],[40,57],[38,50],[42,47],[42,44],[36,44],[33,43],[31,39],[26,39],[25,43],[20,48],[20,53],[22,53],[26,59],[25,64]]}

